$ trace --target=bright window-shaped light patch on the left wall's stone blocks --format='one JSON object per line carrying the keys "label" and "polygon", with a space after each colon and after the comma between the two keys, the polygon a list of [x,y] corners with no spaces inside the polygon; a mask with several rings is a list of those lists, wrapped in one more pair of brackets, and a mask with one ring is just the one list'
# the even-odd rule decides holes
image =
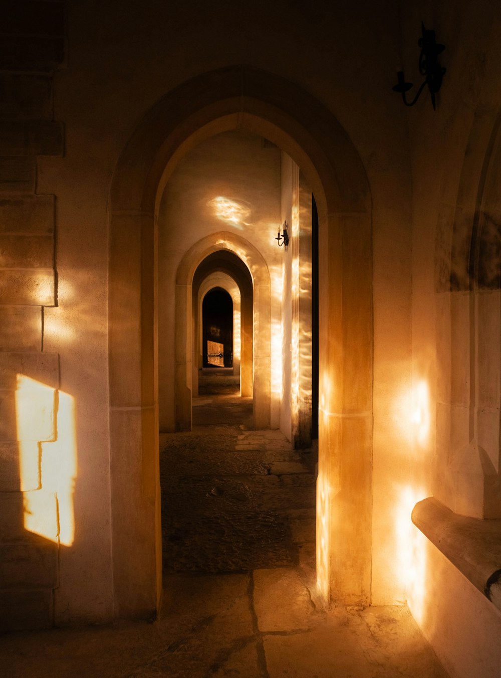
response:
{"label": "bright window-shaped light patch on the left wall's stone blocks", "polygon": [[[20,444],[21,487],[34,473],[26,441],[41,441],[39,489],[24,493],[24,528],[53,542],[74,540],[73,492],[77,476],[74,399],[18,374],[16,425]],[[37,458],[38,473],[38,458]]]}

